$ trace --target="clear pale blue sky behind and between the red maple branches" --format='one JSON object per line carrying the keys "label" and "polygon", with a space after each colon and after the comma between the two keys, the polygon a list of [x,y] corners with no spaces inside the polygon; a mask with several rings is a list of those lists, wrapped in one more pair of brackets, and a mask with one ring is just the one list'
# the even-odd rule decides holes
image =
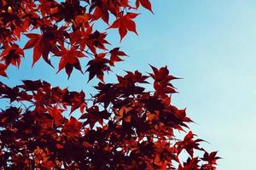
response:
{"label": "clear pale blue sky behind and between the red maple branches", "polygon": [[[172,75],[183,77],[175,82],[179,94],[172,101],[187,108],[197,123],[191,124],[192,130],[211,143],[204,147],[218,150],[224,158],[218,169],[256,169],[256,1],[152,2],[155,14],[143,10],[137,18],[139,37],[130,33],[119,44],[117,32],[110,32],[109,42],[130,55],[114,73],[150,71],[148,64],[168,65]],[[26,54],[20,71],[9,68],[9,80],[0,77],[0,81],[15,85],[40,78],[54,86],[91,90],[86,85],[88,75],[74,71],[67,80],[64,71],[55,75],[56,70],[40,62],[31,69],[32,57]]]}

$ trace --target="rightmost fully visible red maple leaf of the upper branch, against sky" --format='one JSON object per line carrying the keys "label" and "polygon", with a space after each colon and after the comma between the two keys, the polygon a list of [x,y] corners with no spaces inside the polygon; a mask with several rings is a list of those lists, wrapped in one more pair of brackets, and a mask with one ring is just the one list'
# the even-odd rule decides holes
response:
{"label": "rightmost fully visible red maple leaf of the upper branch, against sky", "polygon": [[135,13],[127,13],[127,14],[119,14],[119,17],[117,20],[113,22],[111,26],[108,27],[110,28],[119,28],[119,35],[120,35],[120,42],[122,41],[123,37],[127,34],[127,31],[133,31],[134,33],[137,34],[136,31],[136,24],[133,20],[137,17],[138,14]]}

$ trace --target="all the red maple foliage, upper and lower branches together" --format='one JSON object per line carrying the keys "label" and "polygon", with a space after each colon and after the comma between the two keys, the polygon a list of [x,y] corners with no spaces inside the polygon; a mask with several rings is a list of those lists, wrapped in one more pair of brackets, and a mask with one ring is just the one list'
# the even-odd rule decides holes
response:
{"label": "all the red maple foliage, upper and lower branches together", "polygon": [[[148,75],[126,71],[116,83],[104,82],[104,73],[126,56],[118,47],[108,48],[108,29],[118,29],[120,41],[128,31],[137,34],[140,7],[153,13],[149,0],[0,1],[1,76],[8,77],[9,65],[19,67],[32,48],[32,65],[43,58],[54,67],[50,58],[60,58],[57,72],[70,77],[73,68],[84,72],[80,59],[88,58],[89,81],[99,79],[93,96],[41,80],[15,87],[0,82],[0,98],[9,102],[0,112],[1,169],[216,168],[217,152],[201,148],[202,139],[191,131],[183,139],[174,135],[186,132],[192,121],[171,103],[177,77],[167,67],[150,65]],[[95,29],[100,20],[106,31]],[[20,47],[23,35],[28,40]],[[154,91],[147,91],[148,83]],[[67,111],[70,118],[63,116]],[[80,116],[72,116],[74,111]]]}

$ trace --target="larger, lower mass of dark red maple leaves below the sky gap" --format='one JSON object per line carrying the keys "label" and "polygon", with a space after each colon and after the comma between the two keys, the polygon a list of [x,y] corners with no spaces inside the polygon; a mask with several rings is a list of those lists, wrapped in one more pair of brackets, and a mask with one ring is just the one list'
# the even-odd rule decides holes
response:
{"label": "larger, lower mass of dark red maple leaves below the sky gap", "polygon": [[[99,82],[90,99],[83,91],[52,88],[39,80],[14,88],[1,83],[0,97],[10,102],[0,113],[1,167],[175,169],[176,163],[178,170],[215,169],[217,152],[201,148],[202,139],[192,132],[175,137],[192,121],[171,103],[175,77],[166,67],[152,69],[148,76],[127,71],[116,83]],[[149,77],[154,92],[144,88]],[[72,116],[76,111],[79,118]],[[186,162],[179,158],[183,150],[189,154]],[[195,156],[195,150],[204,156]]]}

